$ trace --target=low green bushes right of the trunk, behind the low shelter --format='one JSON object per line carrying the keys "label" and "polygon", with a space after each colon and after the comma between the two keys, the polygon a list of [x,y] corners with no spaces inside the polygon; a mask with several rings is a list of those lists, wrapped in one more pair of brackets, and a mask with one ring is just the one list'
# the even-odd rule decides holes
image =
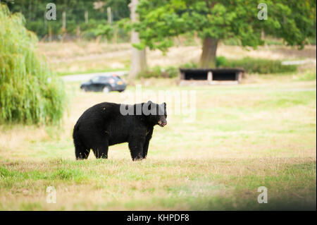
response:
{"label": "low green bushes right of the trunk, behind the low shelter", "polygon": [[223,56],[217,57],[219,68],[243,68],[247,73],[291,73],[297,71],[296,65],[282,65],[279,60],[253,59],[246,57],[239,60],[228,60]]}

